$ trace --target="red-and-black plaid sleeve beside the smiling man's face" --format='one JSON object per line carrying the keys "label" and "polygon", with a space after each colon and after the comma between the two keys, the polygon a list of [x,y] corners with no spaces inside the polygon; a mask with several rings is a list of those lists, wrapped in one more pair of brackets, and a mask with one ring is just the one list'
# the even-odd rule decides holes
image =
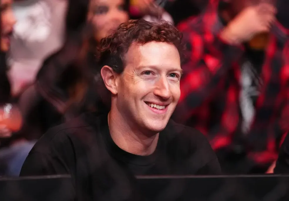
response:
{"label": "red-and-black plaid sleeve beside the smiling man's face", "polygon": [[188,22],[178,27],[184,36],[187,58],[182,65],[181,97],[173,115],[175,121],[183,124],[211,99],[225,73],[243,52],[241,47],[229,45],[218,34],[206,31],[201,19]]}

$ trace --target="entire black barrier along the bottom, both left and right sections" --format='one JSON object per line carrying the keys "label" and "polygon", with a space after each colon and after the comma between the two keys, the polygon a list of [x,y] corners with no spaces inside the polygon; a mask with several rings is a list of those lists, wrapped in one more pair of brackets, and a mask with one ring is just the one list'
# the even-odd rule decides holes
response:
{"label": "entire black barrier along the bottom, both left and right sections", "polygon": [[[137,184],[141,196],[135,201],[289,201],[289,175],[142,176]],[[1,201],[72,201],[74,197],[70,176],[0,178]]]}

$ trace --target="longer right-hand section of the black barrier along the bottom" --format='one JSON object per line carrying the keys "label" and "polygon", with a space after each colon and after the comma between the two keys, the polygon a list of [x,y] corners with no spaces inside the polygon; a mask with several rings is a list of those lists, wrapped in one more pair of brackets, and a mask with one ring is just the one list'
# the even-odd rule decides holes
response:
{"label": "longer right-hand section of the black barrier along the bottom", "polygon": [[149,201],[289,201],[289,175],[137,178]]}

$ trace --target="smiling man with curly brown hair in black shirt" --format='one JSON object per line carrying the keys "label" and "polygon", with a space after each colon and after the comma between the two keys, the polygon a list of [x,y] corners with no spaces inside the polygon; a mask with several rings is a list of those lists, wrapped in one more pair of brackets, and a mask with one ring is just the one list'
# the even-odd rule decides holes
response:
{"label": "smiling man with curly brown hair in black shirt", "polygon": [[169,121],[180,97],[181,49],[181,34],[168,23],[122,24],[100,44],[109,114],[48,131],[21,175],[71,174],[77,197],[97,200],[128,193],[127,175],[220,173],[205,136]]}

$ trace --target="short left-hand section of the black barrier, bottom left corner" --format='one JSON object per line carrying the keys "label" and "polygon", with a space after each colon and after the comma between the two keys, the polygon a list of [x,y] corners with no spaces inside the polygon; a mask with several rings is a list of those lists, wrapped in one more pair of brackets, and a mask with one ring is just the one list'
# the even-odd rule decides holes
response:
{"label": "short left-hand section of the black barrier, bottom left corner", "polygon": [[0,178],[1,201],[73,201],[69,175]]}

